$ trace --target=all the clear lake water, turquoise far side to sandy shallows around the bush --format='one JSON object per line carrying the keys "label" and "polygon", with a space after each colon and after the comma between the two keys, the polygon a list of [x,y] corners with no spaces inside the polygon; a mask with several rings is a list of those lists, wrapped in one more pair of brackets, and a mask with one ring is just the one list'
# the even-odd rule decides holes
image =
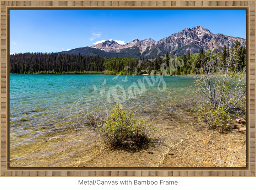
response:
{"label": "all the clear lake water, turquoise far side to sandy shallows around the bush", "polygon": [[[10,167],[243,166],[245,134],[213,133],[187,112],[193,85],[187,76],[10,75]],[[106,118],[117,102],[157,128],[154,145],[134,152],[102,143],[87,117]]]}

